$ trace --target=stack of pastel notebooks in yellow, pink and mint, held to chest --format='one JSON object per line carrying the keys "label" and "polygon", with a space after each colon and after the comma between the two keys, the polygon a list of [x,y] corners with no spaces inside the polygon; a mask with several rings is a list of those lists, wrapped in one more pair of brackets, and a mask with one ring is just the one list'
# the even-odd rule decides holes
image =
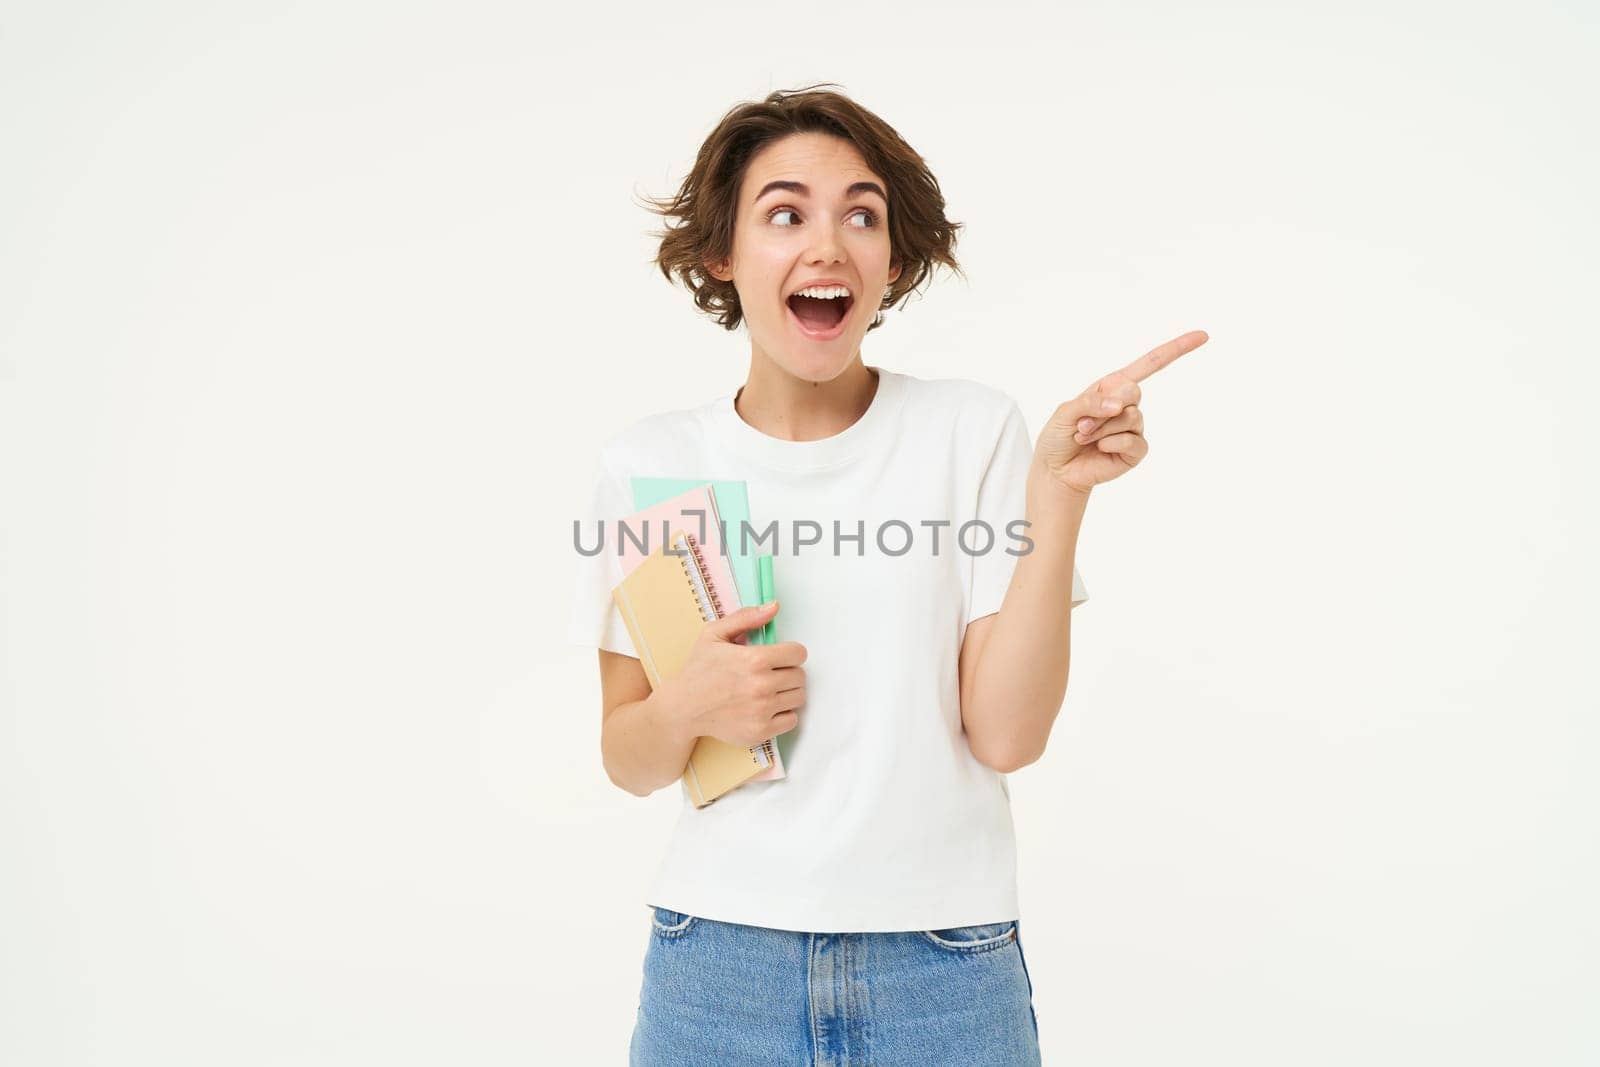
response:
{"label": "stack of pastel notebooks in yellow, pink and mint, held to chest", "polygon": [[[749,502],[742,482],[635,478],[634,506],[640,510],[618,531],[624,577],[611,597],[650,686],[659,688],[683,670],[707,622],[773,598],[771,557],[744,550]],[[747,640],[771,643],[773,624],[752,630]],[[746,749],[699,737],[683,769],[683,789],[701,808],[744,782],[784,774],[776,739]]]}

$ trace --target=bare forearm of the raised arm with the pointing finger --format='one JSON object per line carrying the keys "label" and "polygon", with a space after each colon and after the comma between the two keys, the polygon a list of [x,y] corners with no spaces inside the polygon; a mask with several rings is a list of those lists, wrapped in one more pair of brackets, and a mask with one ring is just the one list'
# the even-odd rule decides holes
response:
{"label": "bare forearm of the raised arm with the pointing finger", "polygon": [[1045,752],[1072,662],[1072,566],[1086,494],[1064,491],[1037,464],[1027,480],[1027,536],[962,702],[974,752],[1008,769]]}

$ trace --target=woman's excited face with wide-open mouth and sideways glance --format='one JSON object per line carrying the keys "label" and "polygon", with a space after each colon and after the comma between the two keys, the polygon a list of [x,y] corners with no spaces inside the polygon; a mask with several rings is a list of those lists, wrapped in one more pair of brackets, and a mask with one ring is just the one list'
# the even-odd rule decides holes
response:
{"label": "woman's excited face with wide-open mouth and sideways glance", "polygon": [[[832,381],[850,366],[901,274],[886,189],[853,144],[824,133],[789,134],[746,166],[733,254],[710,272],[738,290],[755,349],[795,378]],[[798,296],[818,283],[830,293]]]}

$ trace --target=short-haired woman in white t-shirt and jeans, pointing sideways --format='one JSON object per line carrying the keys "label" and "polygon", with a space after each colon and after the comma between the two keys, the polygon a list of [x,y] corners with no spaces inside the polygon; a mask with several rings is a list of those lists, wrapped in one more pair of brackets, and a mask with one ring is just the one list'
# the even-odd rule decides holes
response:
{"label": "short-haired woman in white t-shirt and jeans, pointing sideways", "polygon": [[[600,649],[605,769],[643,797],[699,736],[794,734],[787,777],[685,797],[632,1059],[1038,1062],[1003,776],[1061,707],[1090,491],[1147,451],[1138,382],[1205,334],[1061,403],[1037,446],[995,389],[866,365],[882,312],[958,270],[958,226],[893,128],[816,86],[730,110],[654,210],[675,221],[661,270],[749,330],[750,368],[613,437],[592,517],[635,510],[632,477],[744,480],[779,597],[707,624],[651,691],[614,550],[584,557],[573,637]],[[774,616],[786,640],[736,640]]]}

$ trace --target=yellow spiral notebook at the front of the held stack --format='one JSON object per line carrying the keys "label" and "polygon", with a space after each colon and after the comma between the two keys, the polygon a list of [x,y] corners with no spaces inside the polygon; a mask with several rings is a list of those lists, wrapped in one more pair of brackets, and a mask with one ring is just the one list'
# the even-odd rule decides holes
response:
{"label": "yellow spiral notebook at the front of the held stack", "polygon": [[[704,597],[706,574],[699,558],[694,536],[674,530],[666,545],[611,590],[651,689],[678,677],[699,632],[717,617]],[[683,785],[694,806],[704,808],[762,769],[762,761],[744,745],[699,737],[683,768]]]}

